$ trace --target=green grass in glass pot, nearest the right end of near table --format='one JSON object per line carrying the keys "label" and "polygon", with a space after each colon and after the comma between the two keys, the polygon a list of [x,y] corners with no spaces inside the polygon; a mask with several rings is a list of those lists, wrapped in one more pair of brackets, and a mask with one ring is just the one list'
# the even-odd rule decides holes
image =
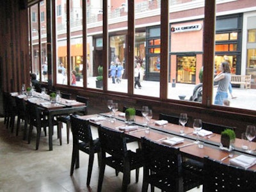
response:
{"label": "green grass in glass pot, nearest the right end of near table", "polygon": [[236,134],[232,129],[225,129],[221,132],[220,148],[223,150],[233,150],[235,146]]}

